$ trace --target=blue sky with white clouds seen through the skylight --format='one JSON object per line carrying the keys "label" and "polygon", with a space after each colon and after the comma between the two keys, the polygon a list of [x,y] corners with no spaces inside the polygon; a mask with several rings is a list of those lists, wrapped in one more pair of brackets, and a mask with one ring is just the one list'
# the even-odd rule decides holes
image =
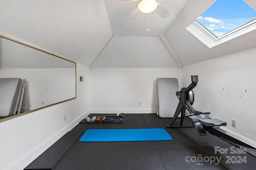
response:
{"label": "blue sky with white clouds seen through the skylight", "polygon": [[243,0],[216,0],[196,20],[220,37],[256,19],[256,10]]}

